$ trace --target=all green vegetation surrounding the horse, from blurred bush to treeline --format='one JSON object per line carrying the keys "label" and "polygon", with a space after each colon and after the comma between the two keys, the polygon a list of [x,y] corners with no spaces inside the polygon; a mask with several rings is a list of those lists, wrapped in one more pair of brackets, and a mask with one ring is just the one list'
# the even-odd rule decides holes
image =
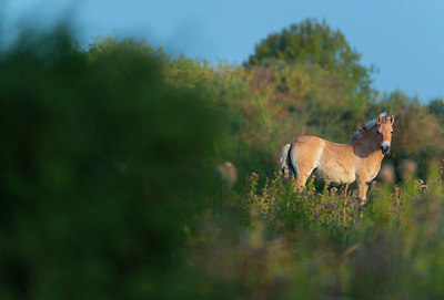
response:
{"label": "all green vegetation surrounding the horse, from blurred bush to treeline", "polygon": [[[244,65],[23,32],[0,53],[0,298],[443,299],[444,103],[372,74],[315,20]],[[364,206],[275,173],[296,134],[345,143],[383,111],[393,174]]]}

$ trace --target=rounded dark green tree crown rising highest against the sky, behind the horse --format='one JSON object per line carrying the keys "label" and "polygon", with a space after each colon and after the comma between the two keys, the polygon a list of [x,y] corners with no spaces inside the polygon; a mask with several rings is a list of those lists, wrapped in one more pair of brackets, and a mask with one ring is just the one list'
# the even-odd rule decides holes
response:
{"label": "rounded dark green tree crown rising highest against the sky, behind the horse", "polygon": [[373,66],[360,63],[361,54],[352,49],[339,30],[307,19],[284,28],[262,40],[246,65],[266,64],[270,60],[296,62],[307,66],[316,64],[334,75],[341,76],[349,91],[370,95]]}

